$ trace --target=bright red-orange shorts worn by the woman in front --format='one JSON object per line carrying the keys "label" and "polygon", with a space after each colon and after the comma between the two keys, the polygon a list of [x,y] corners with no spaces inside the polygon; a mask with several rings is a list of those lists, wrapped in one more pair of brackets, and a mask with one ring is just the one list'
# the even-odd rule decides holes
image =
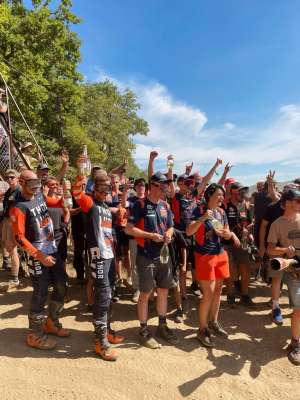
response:
{"label": "bright red-orange shorts worn by the woman in front", "polygon": [[198,281],[229,278],[229,261],[226,251],[213,255],[195,253],[195,263],[195,277]]}

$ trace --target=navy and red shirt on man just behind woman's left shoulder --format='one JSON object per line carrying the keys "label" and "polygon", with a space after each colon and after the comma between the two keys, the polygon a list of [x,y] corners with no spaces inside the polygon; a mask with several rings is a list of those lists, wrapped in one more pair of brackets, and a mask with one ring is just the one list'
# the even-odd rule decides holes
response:
{"label": "navy and red shirt on man just behind woman's left shoulder", "polygon": [[175,196],[171,200],[171,209],[176,229],[185,232],[195,207],[196,202],[193,198],[187,198],[181,193],[175,193]]}

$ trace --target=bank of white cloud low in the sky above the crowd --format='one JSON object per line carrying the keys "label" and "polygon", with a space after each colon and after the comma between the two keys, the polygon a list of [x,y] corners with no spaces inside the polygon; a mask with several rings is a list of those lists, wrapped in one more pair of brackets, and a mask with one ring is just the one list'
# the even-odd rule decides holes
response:
{"label": "bank of white cloud low in the sky above the crowd", "polygon": [[[135,79],[116,80],[99,72],[98,78],[109,78],[121,88],[130,87],[141,104],[140,115],[150,127],[148,136],[135,138],[137,163],[145,167],[149,152],[159,152],[159,159],[174,154],[176,169],[187,161],[212,164],[221,157],[234,165],[258,168],[265,164],[298,165],[300,152],[300,105],[283,105],[267,127],[239,127],[225,122],[220,128],[206,128],[207,117],[198,107],[177,100],[158,82],[141,83]],[[265,167],[264,167],[265,168]],[[258,176],[257,174],[249,174]]]}

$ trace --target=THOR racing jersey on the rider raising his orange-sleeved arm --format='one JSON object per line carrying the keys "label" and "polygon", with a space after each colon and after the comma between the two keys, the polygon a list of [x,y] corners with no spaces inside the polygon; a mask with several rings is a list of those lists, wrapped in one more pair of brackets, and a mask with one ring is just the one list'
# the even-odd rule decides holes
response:
{"label": "THOR racing jersey on the rider raising his orange-sleeved arm", "polygon": [[[77,204],[86,215],[86,239],[92,254],[99,255],[106,260],[114,257],[112,214],[105,202],[93,199],[81,191],[73,192]],[[82,227],[83,229],[83,227]]]}

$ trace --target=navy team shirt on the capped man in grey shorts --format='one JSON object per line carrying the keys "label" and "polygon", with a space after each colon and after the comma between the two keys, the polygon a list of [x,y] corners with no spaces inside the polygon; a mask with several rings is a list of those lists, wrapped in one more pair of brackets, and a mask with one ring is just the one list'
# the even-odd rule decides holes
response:
{"label": "navy team shirt on the capped man in grey shorts", "polygon": [[[172,211],[168,203],[163,200],[159,200],[158,203],[152,203],[149,199],[139,200],[133,206],[128,222],[143,231],[164,235],[173,227]],[[136,240],[140,254],[154,260],[159,258],[163,243],[144,238]]]}

